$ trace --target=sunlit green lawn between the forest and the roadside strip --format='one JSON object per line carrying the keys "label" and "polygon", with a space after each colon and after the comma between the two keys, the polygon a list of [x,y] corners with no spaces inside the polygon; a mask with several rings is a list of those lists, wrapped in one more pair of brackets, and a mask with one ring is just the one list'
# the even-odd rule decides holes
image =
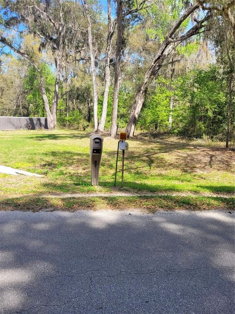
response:
{"label": "sunlit green lawn between the forest and the roadside strip", "polygon": [[[89,133],[71,130],[0,131],[0,165],[43,175],[37,178],[0,174],[0,197],[4,201],[6,198],[19,197],[21,200],[25,196],[38,197],[50,193],[119,190],[113,187],[118,140],[104,138],[100,185],[91,186],[89,136]],[[124,190],[212,192],[218,196],[219,193],[232,196],[234,192],[234,153],[231,151],[207,148],[176,138],[132,139],[128,142]],[[120,166],[121,162],[119,170]],[[117,185],[120,185],[120,172],[117,179]],[[129,201],[132,202],[131,199]],[[138,202],[135,207],[137,205]]]}

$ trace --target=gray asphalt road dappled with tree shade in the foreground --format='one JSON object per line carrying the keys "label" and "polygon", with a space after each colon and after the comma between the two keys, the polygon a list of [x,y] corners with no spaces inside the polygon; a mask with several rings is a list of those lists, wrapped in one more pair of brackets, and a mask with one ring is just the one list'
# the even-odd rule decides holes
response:
{"label": "gray asphalt road dappled with tree shade in the foreground", "polygon": [[234,314],[234,213],[0,212],[1,314]]}

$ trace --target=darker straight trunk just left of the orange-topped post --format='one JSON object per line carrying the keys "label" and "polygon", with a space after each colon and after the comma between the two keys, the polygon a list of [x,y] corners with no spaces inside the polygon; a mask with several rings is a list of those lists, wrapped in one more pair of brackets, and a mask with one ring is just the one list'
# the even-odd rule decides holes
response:
{"label": "darker straight trunk just left of the orange-topped post", "polygon": [[114,98],[113,98],[113,112],[110,136],[114,138],[117,133],[117,116],[118,116],[118,94],[119,94],[119,78],[120,78],[120,63],[121,63],[121,48],[122,48],[122,0],[118,0],[117,8],[117,23],[118,23],[118,35],[117,35],[117,50],[116,50],[116,65],[115,65],[115,77],[114,77]]}

